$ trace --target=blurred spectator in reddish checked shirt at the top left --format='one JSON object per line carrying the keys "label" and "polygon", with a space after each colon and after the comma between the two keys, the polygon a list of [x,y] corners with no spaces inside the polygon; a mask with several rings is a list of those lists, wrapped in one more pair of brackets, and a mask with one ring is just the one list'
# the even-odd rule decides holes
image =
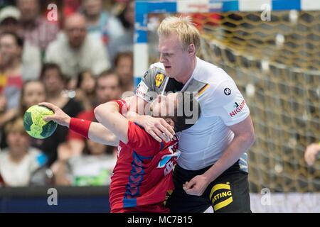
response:
{"label": "blurred spectator in reddish checked shirt at the top left", "polygon": [[56,21],[48,21],[41,16],[39,0],[16,0],[21,11],[21,28],[25,40],[45,51],[57,37],[59,28]]}

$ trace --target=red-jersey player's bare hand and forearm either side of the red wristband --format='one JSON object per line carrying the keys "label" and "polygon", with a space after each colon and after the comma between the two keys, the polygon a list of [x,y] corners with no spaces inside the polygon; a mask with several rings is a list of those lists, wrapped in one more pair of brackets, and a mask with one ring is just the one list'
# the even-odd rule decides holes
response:
{"label": "red-jersey player's bare hand and forearm either side of the red wristband", "polygon": [[[68,114],[65,114],[65,112],[63,112],[58,106],[55,106],[47,102],[43,102],[39,105],[47,106],[55,112],[55,114],[52,116],[46,116],[46,118],[44,118],[45,121],[55,121],[60,126],[66,126],[69,128],[71,118],[70,116],[68,116]],[[119,139],[116,137],[116,135],[114,135],[114,133],[105,128],[105,126],[102,126],[101,123],[97,122],[92,122],[90,124],[88,138],[97,143],[102,143],[105,145],[119,145]]]}

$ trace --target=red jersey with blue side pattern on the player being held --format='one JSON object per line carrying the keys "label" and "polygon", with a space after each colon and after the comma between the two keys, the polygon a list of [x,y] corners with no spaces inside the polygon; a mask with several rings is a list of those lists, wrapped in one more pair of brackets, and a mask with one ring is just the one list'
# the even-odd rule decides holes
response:
{"label": "red jersey with blue side pattern on the player being held", "polygon": [[174,189],[172,171],[178,141],[154,140],[129,121],[128,143],[120,141],[110,184],[111,212],[169,212],[166,193]]}

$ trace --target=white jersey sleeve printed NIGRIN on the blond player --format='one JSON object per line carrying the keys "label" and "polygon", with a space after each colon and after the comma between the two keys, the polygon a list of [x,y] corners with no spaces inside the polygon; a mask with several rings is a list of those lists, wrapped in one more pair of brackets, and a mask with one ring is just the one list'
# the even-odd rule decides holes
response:
{"label": "white jersey sleeve printed NIGRIN on the blond player", "polygon": [[211,86],[203,97],[201,113],[203,116],[219,116],[226,126],[240,123],[250,115],[250,110],[232,79]]}

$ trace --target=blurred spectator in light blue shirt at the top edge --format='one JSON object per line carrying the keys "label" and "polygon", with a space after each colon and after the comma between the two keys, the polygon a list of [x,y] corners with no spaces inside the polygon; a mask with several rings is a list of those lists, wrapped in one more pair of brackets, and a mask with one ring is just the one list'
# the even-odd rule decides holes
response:
{"label": "blurred spectator in light blue shirt at the top edge", "polygon": [[119,19],[103,10],[102,0],[84,0],[82,8],[87,19],[87,31],[100,38],[109,52],[110,40],[117,40],[124,34]]}

